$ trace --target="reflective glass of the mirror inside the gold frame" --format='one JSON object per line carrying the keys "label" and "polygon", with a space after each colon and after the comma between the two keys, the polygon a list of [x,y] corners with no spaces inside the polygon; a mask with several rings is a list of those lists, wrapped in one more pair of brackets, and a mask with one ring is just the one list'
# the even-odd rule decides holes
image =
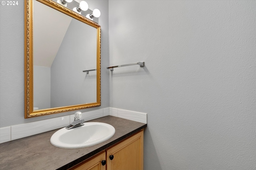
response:
{"label": "reflective glass of the mirror inside the gold frame", "polygon": [[97,102],[97,30],[37,1],[33,21],[34,107]]}

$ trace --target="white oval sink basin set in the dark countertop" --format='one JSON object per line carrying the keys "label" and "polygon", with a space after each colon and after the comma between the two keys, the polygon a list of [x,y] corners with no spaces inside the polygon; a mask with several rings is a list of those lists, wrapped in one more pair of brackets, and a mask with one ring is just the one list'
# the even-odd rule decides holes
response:
{"label": "white oval sink basin set in the dark countertop", "polygon": [[110,139],[115,132],[115,128],[107,123],[87,122],[80,127],[69,130],[64,127],[56,131],[50,141],[60,148],[84,148]]}

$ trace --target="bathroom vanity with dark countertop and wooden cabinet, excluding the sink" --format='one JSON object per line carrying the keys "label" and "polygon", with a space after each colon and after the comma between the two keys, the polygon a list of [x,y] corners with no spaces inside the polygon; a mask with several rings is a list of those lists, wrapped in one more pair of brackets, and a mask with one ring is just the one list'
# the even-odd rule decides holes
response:
{"label": "bathroom vanity with dark countertop and wooden cabinet, excluding the sink", "polygon": [[122,166],[137,165],[138,170],[143,169],[143,129],[147,124],[113,116],[88,122],[108,123],[116,132],[107,141],[80,149],[53,146],[50,137],[58,129],[2,143],[0,167],[12,170],[114,170],[122,169]]}

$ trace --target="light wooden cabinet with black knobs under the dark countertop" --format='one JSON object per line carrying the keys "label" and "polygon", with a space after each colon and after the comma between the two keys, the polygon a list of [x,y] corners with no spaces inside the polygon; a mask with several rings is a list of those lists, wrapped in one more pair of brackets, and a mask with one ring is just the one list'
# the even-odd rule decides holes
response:
{"label": "light wooden cabinet with black knobs under the dark countertop", "polygon": [[70,170],[143,170],[143,130]]}

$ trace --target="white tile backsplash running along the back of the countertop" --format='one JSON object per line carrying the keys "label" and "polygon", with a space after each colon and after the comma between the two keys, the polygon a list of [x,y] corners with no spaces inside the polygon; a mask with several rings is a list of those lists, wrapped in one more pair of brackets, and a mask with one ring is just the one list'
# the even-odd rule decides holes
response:
{"label": "white tile backsplash running along the back of the countertop", "polygon": [[[128,119],[132,121],[137,121],[141,123],[147,123],[147,114],[129,111],[123,109],[117,109],[113,107],[106,107],[104,109],[98,109],[93,111],[87,111],[82,113],[81,119],[89,121],[92,119],[97,119],[107,115],[120,117],[123,119]],[[47,131],[52,131],[61,127],[65,127],[74,121],[74,114],[56,117],[52,119],[46,119],[42,121],[35,121],[31,123],[24,123],[20,125],[13,125],[9,127],[0,128],[0,143],[12,141],[15,139],[20,139],[23,137],[28,137],[31,135],[36,135],[39,133],[44,133]]]}

